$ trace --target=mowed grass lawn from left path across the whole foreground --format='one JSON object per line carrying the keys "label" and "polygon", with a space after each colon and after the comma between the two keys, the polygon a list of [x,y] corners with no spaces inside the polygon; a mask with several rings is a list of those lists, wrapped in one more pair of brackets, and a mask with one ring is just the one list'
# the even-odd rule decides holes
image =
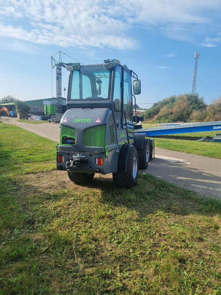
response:
{"label": "mowed grass lawn from left path across the whole foreground", "polygon": [[[56,189],[47,172],[54,142],[0,128],[5,164],[14,148],[21,170],[1,167],[0,294],[221,294],[219,200],[148,174],[131,189],[110,180]],[[22,143],[6,152],[12,137]],[[36,154],[27,157],[33,141]]]}

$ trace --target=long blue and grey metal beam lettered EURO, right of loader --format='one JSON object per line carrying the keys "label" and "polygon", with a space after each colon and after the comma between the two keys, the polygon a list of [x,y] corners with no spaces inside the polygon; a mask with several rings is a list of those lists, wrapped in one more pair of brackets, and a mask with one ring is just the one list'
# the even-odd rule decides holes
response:
{"label": "long blue and grey metal beam lettered EURO, right of loader", "polygon": [[191,133],[202,131],[217,131],[221,132],[221,121],[205,122],[205,123],[184,123],[182,125],[160,126],[154,128],[137,129],[137,133],[146,133],[146,136],[168,135],[178,133]]}

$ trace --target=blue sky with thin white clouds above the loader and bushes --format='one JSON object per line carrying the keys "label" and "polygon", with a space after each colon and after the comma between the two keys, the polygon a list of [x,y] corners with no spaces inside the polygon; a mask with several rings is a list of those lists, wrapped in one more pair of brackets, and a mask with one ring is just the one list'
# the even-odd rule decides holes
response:
{"label": "blue sky with thin white clouds above the loader and bushes", "polygon": [[196,92],[207,104],[221,95],[220,0],[5,0],[0,11],[0,98],[56,97],[59,50],[83,64],[119,59],[141,80],[141,108],[192,92],[199,52]]}

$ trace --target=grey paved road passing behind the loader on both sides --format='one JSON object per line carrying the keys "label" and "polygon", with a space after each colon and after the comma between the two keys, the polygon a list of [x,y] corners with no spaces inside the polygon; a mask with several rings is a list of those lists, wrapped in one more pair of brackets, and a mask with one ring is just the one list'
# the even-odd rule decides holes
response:
{"label": "grey paved road passing behind the loader on both sides", "polygon": [[[16,119],[1,117],[0,121],[14,124],[59,142],[60,124],[35,125],[20,123]],[[196,191],[200,195],[221,199],[221,159],[185,154],[162,148],[155,148],[155,154],[155,158],[150,161],[147,169],[140,170],[140,172],[152,174],[185,189]]]}

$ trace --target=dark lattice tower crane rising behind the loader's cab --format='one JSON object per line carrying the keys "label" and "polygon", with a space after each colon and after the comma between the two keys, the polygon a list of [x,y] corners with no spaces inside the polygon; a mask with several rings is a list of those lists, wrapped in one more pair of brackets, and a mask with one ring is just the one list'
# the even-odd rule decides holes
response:
{"label": "dark lattice tower crane rising behind the loader's cab", "polygon": [[[54,58],[54,56],[56,54],[59,53],[59,61],[57,62]],[[66,66],[68,65],[75,65],[76,68],[78,68],[78,66],[80,64],[82,64],[80,61],[77,61],[76,59],[74,59],[73,57],[70,57],[69,55],[67,55],[68,57],[72,58],[73,60],[77,61],[77,63],[64,63],[62,62],[61,59],[61,53],[65,54],[62,51],[59,51],[57,53],[55,53],[54,55],[51,56],[51,61],[52,61],[52,69],[54,67],[56,67],[56,98],[57,98],[57,103],[56,103],[56,113],[62,113],[62,103],[61,103],[61,79],[62,79],[62,73],[61,73],[61,68],[66,68]],[[83,64],[82,64],[83,65]],[[65,89],[66,90],[66,89]]]}

